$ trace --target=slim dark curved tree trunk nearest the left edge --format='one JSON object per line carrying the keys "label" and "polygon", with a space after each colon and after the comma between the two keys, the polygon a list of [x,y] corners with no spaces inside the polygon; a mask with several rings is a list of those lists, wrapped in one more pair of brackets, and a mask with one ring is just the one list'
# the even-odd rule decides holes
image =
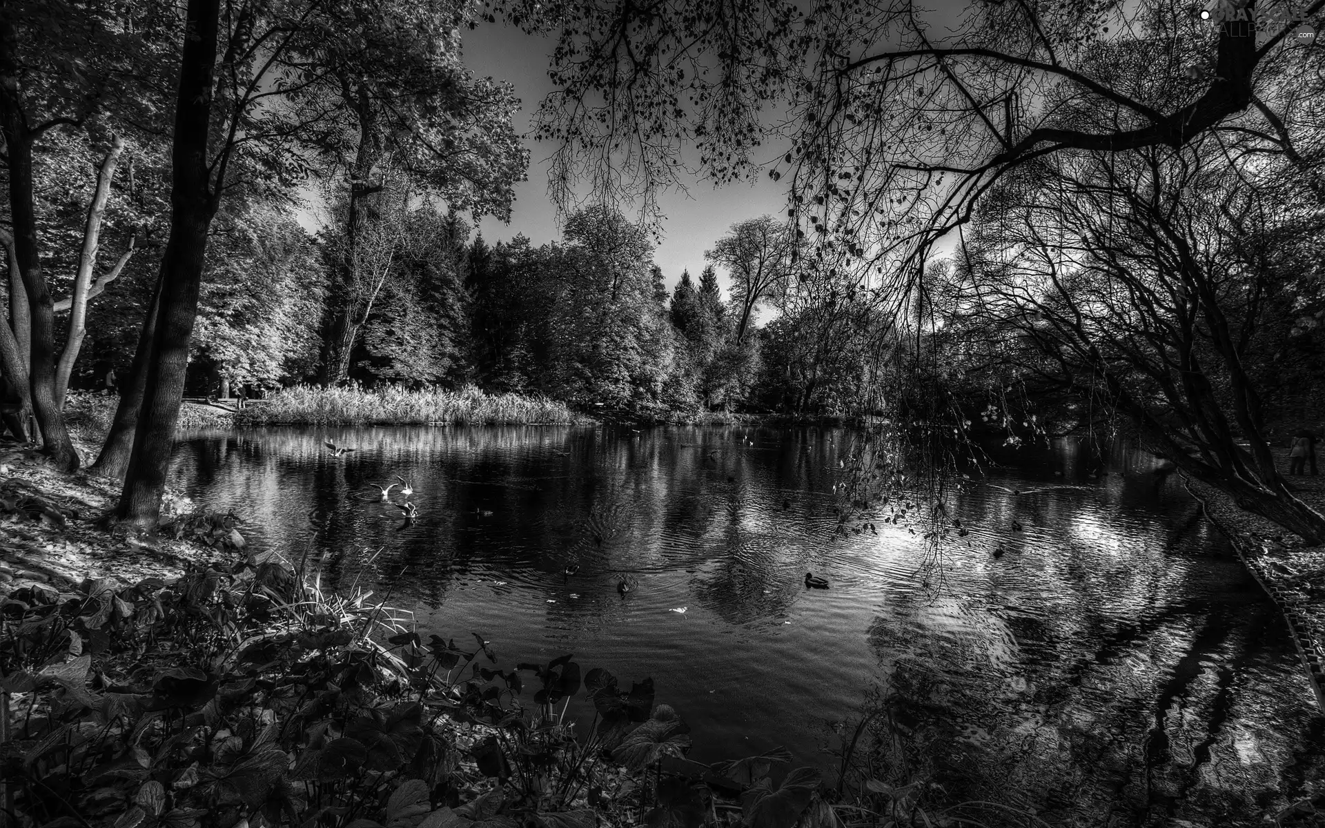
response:
{"label": "slim dark curved tree trunk nearest the left edge", "polygon": [[16,64],[17,33],[13,23],[0,16],[0,132],[4,135],[9,166],[9,217],[13,221],[13,252],[28,293],[32,319],[32,356],[28,383],[32,409],[37,415],[42,442],[56,466],[65,472],[78,468],[78,452],[69,440],[64,415],[56,404],[56,317],[50,290],[41,272],[37,245],[37,212],[33,204],[32,142],[25,122],[20,69]]}

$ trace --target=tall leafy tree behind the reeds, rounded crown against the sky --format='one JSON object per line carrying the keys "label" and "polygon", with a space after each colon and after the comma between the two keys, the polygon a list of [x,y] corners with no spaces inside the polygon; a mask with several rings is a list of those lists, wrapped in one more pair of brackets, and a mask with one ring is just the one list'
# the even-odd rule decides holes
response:
{"label": "tall leafy tree behind the reeds, rounded crown against the sky", "polygon": [[[325,383],[341,382],[350,371],[354,321],[360,315],[351,261],[360,223],[372,221],[374,193],[403,176],[450,208],[505,219],[529,164],[511,125],[519,106],[511,86],[474,78],[460,61],[466,4],[379,5],[372,13],[352,11],[354,28],[310,32],[305,50],[311,62],[288,66],[297,89],[292,103],[318,123],[314,147],[327,180],[343,191],[337,232],[348,254],[334,270],[327,303]],[[364,38],[372,49],[363,48]],[[326,118],[331,111],[338,117]]]}

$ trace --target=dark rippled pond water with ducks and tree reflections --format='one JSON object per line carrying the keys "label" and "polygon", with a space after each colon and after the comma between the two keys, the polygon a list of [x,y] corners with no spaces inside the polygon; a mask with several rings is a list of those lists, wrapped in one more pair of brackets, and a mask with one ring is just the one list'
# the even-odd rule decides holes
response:
{"label": "dark rippled pond water with ducks and tree reflections", "polygon": [[[281,428],[182,440],[172,482],[253,543],[371,584],[424,637],[652,677],[700,762],[783,745],[832,778],[856,722],[886,711],[856,755],[878,778],[1019,798],[1051,824],[1259,824],[1321,778],[1325,721],[1283,623],[1149,456],[994,450],[1003,466],[954,495],[970,534],[926,580],[905,522],[833,534],[849,440]],[[372,486],[398,474],[412,526]]]}

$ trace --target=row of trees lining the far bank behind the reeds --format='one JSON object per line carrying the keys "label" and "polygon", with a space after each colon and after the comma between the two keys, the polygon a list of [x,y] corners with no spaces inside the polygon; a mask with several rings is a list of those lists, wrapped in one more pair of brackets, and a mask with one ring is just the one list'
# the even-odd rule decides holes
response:
{"label": "row of trees lining the far bank behind the reeds", "polygon": [[[560,240],[534,245],[521,234],[488,244],[457,211],[417,191],[371,201],[354,250],[337,215],[343,204],[313,232],[272,204],[217,216],[188,393],[252,397],[343,382],[477,386],[635,417],[714,409],[837,416],[857,412],[867,396],[871,351],[852,329],[865,307],[825,318],[803,295],[804,281],[792,278],[786,249],[776,249],[783,242],[770,237],[786,231],[768,217],[739,223],[710,250],[730,268],[725,297],[713,264],[666,287],[648,232],[604,208],[570,216]],[[103,233],[126,229],[106,221]],[[750,250],[743,258],[741,242]],[[130,371],[154,252],[151,241],[142,244],[90,303],[72,387],[105,388],[107,372],[121,380]],[[754,261],[758,253],[765,261]],[[338,297],[342,268],[351,278]],[[339,334],[343,359],[329,364],[337,319],[351,302],[355,313]],[[757,326],[761,310],[771,319]]]}

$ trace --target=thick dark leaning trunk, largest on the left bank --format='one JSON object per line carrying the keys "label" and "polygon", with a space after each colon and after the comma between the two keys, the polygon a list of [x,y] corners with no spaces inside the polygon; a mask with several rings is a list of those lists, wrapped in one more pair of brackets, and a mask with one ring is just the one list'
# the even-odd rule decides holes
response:
{"label": "thick dark leaning trunk, largest on the left bank", "polygon": [[197,317],[207,233],[215,215],[207,139],[212,115],[220,0],[188,0],[175,138],[171,148],[171,229],[162,256],[156,325],[147,352],[143,403],[134,432],[118,517],[154,530],[184,393],[188,340]]}

